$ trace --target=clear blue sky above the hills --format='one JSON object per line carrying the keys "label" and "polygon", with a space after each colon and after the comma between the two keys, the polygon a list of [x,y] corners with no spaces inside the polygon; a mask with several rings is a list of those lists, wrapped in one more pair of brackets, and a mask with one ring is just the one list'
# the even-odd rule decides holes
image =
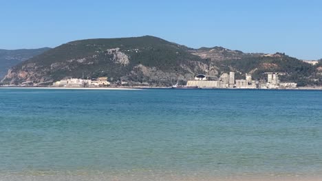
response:
{"label": "clear blue sky above the hills", "polygon": [[322,1],[0,0],[0,49],[152,35],[189,47],[322,58]]}

